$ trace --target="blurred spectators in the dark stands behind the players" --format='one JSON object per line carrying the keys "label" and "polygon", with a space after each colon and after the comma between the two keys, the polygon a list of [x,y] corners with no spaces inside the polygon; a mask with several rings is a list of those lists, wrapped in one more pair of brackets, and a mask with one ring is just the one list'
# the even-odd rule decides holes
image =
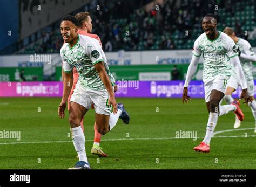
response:
{"label": "blurred spectators in the dark stands behind the players", "polygon": [[[32,5],[36,6],[37,1]],[[238,37],[256,46],[253,1],[163,0],[156,4],[150,0],[101,0],[91,1],[83,6],[83,11],[90,12],[93,33],[99,35],[106,52],[192,49],[194,40],[203,32],[201,19],[206,13],[214,13],[218,17],[218,30],[222,31],[225,26],[233,27]],[[61,0],[55,2],[62,3]],[[99,10],[95,9],[97,5],[100,5]],[[24,7],[32,11],[31,5]],[[248,35],[244,34],[245,31]],[[23,47],[16,54],[59,53],[62,44],[58,22],[42,30],[33,45]]]}

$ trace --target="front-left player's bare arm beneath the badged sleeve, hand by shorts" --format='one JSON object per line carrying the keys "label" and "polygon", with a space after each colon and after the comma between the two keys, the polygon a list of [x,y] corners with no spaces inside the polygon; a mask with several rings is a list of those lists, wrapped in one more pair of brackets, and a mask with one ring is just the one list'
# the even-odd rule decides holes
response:
{"label": "front-left player's bare arm beneath the badged sleeve, hand by shorts", "polygon": [[102,80],[104,86],[106,87],[107,92],[109,93],[109,103],[107,105],[112,105],[113,106],[113,113],[117,113],[117,101],[116,98],[114,98],[114,92],[113,88],[109,79],[109,75],[107,75],[105,66],[103,64],[103,61],[97,63],[94,65],[97,72],[99,73],[99,77]]}

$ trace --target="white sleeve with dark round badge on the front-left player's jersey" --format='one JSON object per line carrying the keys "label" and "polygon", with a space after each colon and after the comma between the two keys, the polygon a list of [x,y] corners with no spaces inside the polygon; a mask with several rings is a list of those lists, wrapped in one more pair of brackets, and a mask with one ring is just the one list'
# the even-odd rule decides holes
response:
{"label": "white sleeve with dark round badge on the front-left player's jersey", "polygon": [[88,55],[93,65],[103,61],[102,52],[100,49],[101,47],[96,39],[93,39],[91,43],[87,44]]}

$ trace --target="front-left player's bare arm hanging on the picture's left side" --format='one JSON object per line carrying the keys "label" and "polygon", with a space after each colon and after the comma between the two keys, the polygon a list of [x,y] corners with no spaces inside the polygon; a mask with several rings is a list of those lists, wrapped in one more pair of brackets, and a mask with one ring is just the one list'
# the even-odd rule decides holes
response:
{"label": "front-left player's bare arm hanging on the picture's left side", "polygon": [[73,85],[73,71],[69,73],[63,73],[63,94],[62,94],[62,102],[60,102],[59,108],[58,108],[58,114],[60,118],[65,117],[65,108],[66,108],[66,102],[68,101],[69,94],[72,89]]}

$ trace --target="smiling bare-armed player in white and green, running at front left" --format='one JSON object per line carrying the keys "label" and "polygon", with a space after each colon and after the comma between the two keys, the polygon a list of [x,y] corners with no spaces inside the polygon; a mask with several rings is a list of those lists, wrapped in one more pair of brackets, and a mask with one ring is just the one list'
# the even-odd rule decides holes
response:
{"label": "smiling bare-armed player in white and green, running at front left", "polygon": [[[106,57],[96,39],[77,33],[78,20],[74,16],[65,16],[60,24],[60,32],[65,44],[60,49],[63,60],[63,96],[58,108],[60,118],[65,116],[66,102],[73,84],[73,67],[79,74],[78,82],[70,99],[69,124],[72,141],[79,157],[75,168],[90,169],[85,152],[85,136],[80,122],[94,103],[96,128],[100,134],[106,134],[117,123],[118,118],[129,122],[129,116],[123,105],[117,105],[113,87],[113,75],[106,64]],[[111,105],[113,113],[111,114]]]}

